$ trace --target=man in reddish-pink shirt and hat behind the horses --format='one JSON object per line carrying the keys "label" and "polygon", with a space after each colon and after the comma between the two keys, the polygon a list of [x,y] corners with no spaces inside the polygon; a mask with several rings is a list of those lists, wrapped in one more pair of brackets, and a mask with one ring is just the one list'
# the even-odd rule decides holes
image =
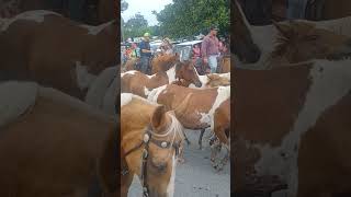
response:
{"label": "man in reddish-pink shirt and hat behind the horses", "polygon": [[[201,45],[202,59],[205,66],[210,66],[212,73],[216,72],[217,57],[219,54],[219,40],[217,38],[217,33],[218,28],[212,25],[210,33],[204,37]],[[208,72],[208,70],[206,72]]]}

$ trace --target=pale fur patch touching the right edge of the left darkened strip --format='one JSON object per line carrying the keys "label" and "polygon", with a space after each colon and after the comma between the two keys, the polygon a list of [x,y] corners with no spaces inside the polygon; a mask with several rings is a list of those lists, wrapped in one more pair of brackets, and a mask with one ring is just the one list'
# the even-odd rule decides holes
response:
{"label": "pale fur patch touching the right edge of the left darkened strip", "polygon": [[89,85],[84,100],[86,103],[95,108],[102,109],[105,93],[109,89],[109,85],[111,84],[111,81],[116,77],[116,74],[117,67],[110,67],[104,69],[92,82],[92,84]]}

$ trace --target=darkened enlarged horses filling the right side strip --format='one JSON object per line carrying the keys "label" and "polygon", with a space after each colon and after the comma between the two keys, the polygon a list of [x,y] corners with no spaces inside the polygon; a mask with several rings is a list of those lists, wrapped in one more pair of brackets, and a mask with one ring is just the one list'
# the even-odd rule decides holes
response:
{"label": "darkened enlarged horses filling the right side strip", "polygon": [[351,18],[253,26],[237,1],[230,14],[234,193],[350,196]]}

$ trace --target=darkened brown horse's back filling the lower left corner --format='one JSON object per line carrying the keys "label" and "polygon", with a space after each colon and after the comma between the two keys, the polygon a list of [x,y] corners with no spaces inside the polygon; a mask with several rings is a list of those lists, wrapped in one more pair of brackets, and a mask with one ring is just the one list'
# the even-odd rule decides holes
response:
{"label": "darkened brown horse's back filling the lower left corner", "polygon": [[0,93],[0,196],[117,195],[118,123],[33,82],[3,82]]}

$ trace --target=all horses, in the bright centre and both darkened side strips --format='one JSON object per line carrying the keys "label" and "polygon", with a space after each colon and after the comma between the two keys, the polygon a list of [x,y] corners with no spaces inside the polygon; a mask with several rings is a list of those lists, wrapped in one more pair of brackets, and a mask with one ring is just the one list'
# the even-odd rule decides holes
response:
{"label": "all horses, in the bright centre and both darkened side strips", "polygon": [[200,76],[178,54],[120,73],[115,20],[1,19],[0,196],[127,196],[134,174],[145,196],[172,196],[184,128],[200,148],[210,128],[238,196],[349,196],[351,19],[252,26],[231,7],[231,100],[230,72]]}

